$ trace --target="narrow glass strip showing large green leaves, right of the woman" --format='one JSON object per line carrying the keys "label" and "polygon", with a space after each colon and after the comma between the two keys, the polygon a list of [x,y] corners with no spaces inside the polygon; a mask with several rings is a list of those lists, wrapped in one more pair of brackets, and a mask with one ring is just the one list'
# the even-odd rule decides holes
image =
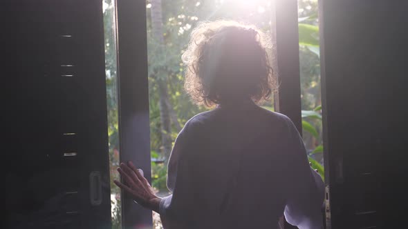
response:
{"label": "narrow glass strip showing large green leaves, right of the woman", "polygon": [[324,177],[317,0],[299,0],[299,60],[303,139],[312,167]]}

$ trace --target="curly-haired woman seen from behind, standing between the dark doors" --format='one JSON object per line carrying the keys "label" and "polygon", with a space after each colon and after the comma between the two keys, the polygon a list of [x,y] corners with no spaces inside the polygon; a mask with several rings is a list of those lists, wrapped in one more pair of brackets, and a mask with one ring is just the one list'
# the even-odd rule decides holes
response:
{"label": "curly-haired woman seen from behind, standing between the dark doors", "polygon": [[205,22],[183,54],[185,89],[216,108],[180,131],[160,198],[133,166],[118,171],[165,228],[276,228],[279,217],[299,228],[322,228],[324,184],[310,168],[292,121],[256,103],[276,88],[261,31],[234,21]]}

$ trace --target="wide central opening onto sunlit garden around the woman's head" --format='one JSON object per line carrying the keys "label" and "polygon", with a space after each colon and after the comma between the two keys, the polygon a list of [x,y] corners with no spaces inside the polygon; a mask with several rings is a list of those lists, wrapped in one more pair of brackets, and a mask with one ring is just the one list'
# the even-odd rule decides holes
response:
{"label": "wide central opening onto sunlit garden around the woman's head", "polygon": [[[146,8],[152,184],[158,195],[168,195],[167,159],[174,139],[188,119],[207,110],[192,103],[183,88],[181,54],[190,32],[199,21],[232,19],[271,34],[272,1],[149,0]],[[272,101],[263,106],[273,110]],[[154,226],[161,228],[158,215],[154,215]]]}

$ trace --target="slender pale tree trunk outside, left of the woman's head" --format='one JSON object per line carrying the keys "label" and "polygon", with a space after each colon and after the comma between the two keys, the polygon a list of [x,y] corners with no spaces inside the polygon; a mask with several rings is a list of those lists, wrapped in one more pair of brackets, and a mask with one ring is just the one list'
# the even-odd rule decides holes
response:
{"label": "slender pale tree trunk outside, left of the woman's head", "polygon": [[[163,37],[163,21],[162,21],[162,1],[151,0],[151,28],[154,35],[154,40],[158,44],[157,55],[163,54],[164,37]],[[169,92],[167,88],[167,73],[163,66],[158,66],[154,70],[157,72],[156,82],[158,82],[159,92],[159,109],[160,109],[160,131],[162,140],[162,153],[166,159],[169,158],[171,152],[171,114]]]}

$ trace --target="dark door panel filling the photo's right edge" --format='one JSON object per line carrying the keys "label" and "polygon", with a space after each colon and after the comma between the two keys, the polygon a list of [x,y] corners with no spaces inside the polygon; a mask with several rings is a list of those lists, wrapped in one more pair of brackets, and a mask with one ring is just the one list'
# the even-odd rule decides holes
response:
{"label": "dark door panel filling the photo's right edge", "polygon": [[332,228],[405,225],[407,7],[319,1]]}

